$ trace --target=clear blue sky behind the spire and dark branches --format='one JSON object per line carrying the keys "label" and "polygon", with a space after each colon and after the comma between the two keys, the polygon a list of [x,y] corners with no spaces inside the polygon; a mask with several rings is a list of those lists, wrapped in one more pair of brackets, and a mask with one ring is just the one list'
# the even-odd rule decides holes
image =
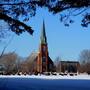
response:
{"label": "clear blue sky behind the spire and dark branches", "polygon": [[[22,57],[27,57],[32,52],[37,52],[44,19],[50,57],[53,60],[57,56],[60,56],[62,60],[78,60],[79,54],[83,49],[90,49],[90,26],[83,28],[80,25],[80,16],[78,16],[74,17],[75,23],[65,27],[59,18],[59,14],[52,15],[47,9],[38,9],[36,16],[27,22],[34,29],[33,36],[28,33],[23,33],[20,36],[12,33],[11,35],[14,35],[14,38],[5,52],[15,51]],[[11,36],[6,39],[5,43],[10,38]],[[0,44],[0,52],[5,43]]]}

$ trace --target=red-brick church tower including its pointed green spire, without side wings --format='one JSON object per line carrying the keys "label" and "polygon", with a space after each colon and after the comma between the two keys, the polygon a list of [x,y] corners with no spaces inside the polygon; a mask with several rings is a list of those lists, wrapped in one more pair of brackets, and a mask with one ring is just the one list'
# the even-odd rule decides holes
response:
{"label": "red-brick church tower including its pointed green spire, without side wings", "polygon": [[47,37],[46,37],[46,32],[45,32],[44,21],[43,21],[41,37],[40,37],[37,71],[40,73],[48,72],[48,45],[47,45]]}

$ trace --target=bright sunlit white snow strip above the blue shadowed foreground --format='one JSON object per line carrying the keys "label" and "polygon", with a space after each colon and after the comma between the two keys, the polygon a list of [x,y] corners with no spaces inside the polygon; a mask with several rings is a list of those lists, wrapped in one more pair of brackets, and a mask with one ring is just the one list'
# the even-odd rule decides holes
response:
{"label": "bright sunlit white snow strip above the blue shadowed foreground", "polygon": [[79,74],[76,76],[70,76],[70,75],[65,75],[65,76],[61,76],[61,75],[50,75],[50,76],[46,76],[46,75],[0,75],[0,78],[36,78],[36,79],[86,79],[86,80],[90,80],[90,75],[87,74]]}

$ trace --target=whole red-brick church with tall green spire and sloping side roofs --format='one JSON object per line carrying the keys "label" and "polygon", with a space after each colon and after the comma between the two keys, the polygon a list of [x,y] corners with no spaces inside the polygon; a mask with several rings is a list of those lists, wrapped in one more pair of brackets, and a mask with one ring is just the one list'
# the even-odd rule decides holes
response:
{"label": "whole red-brick church with tall green spire and sloping side roofs", "polygon": [[36,54],[32,53],[30,58],[32,58],[32,72],[44,73],[54,71],[54,63],[49,57],[44,21],[41,30],[39,51]]}

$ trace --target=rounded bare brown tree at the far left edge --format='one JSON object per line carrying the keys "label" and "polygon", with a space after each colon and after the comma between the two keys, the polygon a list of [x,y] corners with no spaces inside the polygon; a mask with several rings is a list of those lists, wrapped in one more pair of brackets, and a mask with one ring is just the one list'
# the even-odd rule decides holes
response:
{"label": "rounded bare brown tree at the far left edge", "polygon": [[0,59],[0,64],[4,65],[6,74],[15,74],[17,72],[18,56],[14,52],[4,54]]}

